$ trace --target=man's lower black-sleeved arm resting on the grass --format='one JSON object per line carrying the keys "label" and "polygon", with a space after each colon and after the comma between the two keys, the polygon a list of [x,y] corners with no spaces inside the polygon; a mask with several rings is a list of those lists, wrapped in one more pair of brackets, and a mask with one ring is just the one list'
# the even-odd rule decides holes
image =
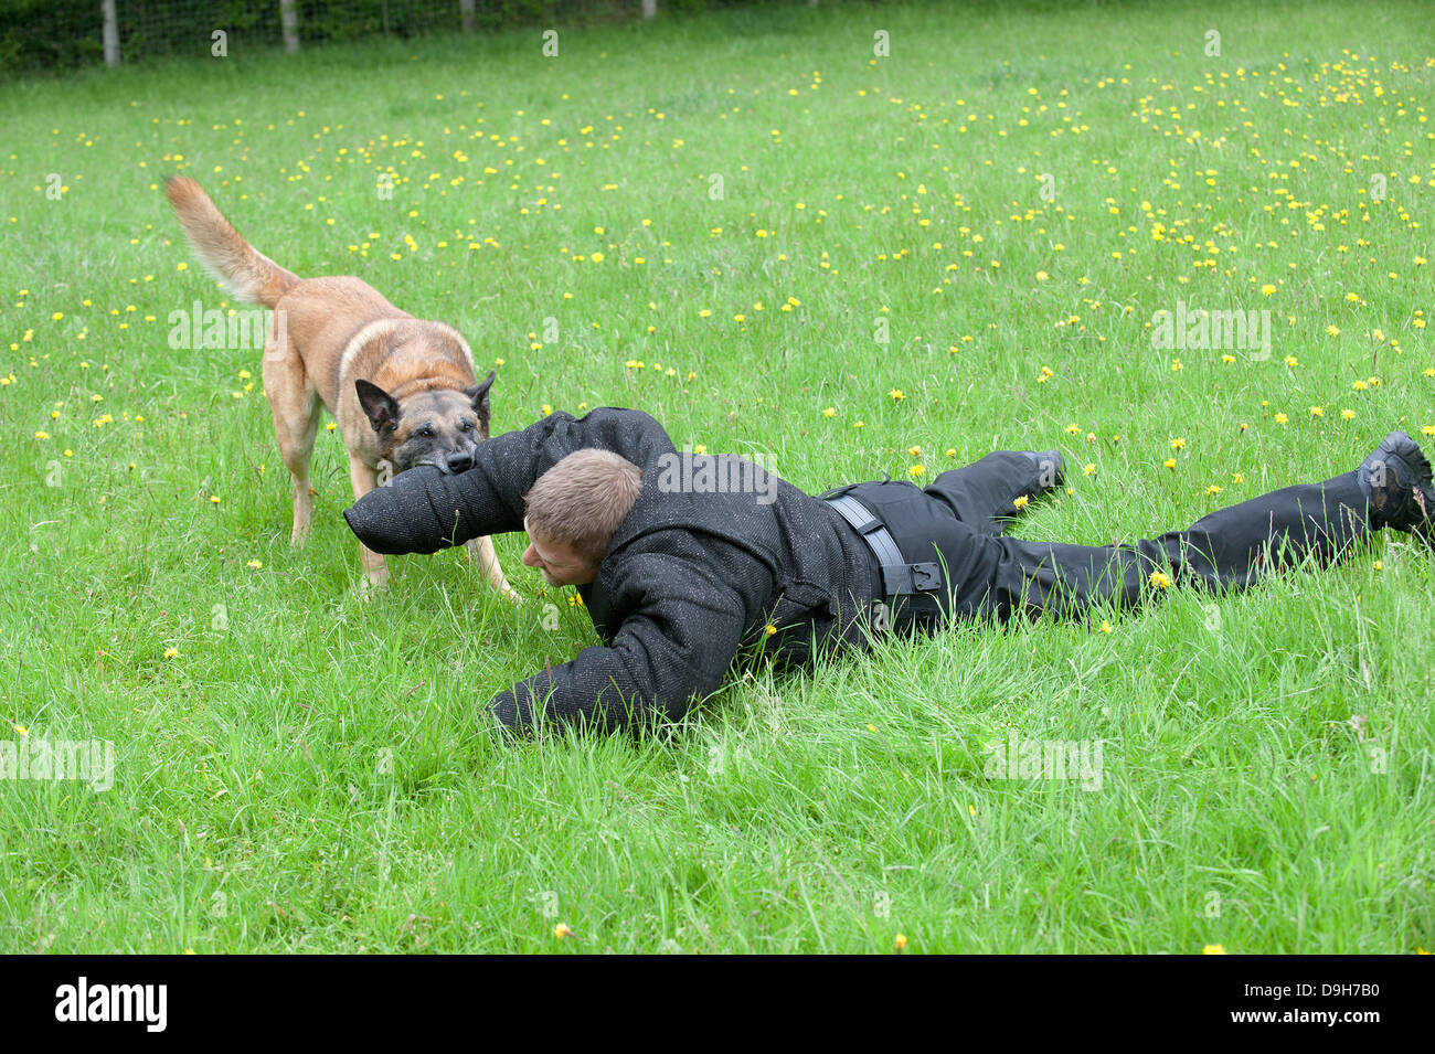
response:
{"label": "man's lower black-sleeved arm resting on the grass", "polygon": [[730,546],[705,548],[712,545],[718,551],[696,561],[676,554],[627,556],[617,588],[636,607],[613,645],[584,648],[571,663],[499,693],[488,704],[494,716],[525,734],[535,730],[540,713],[548,724],[621,728],[654,717],[676,720],[695,698],[716,691],[755,617],[749,598],[766,592],[751,556],[723,559]]}

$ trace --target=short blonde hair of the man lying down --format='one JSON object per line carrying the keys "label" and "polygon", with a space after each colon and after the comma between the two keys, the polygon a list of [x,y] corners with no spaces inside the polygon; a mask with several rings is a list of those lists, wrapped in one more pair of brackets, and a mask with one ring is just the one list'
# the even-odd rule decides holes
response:
{"label": "short blonde hair of the man lying down", "polygon": [[524,495],[528,526],[598,562],[643,490],[641,470],[611,450],[574,450]]}

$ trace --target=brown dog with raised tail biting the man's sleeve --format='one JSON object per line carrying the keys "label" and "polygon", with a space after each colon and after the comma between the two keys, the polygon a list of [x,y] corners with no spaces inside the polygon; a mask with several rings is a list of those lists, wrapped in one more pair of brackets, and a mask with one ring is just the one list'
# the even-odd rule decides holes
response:
{"label": "brown dog with raised tail biting the man's sleeve", "polygon": [[[286,271],[250,245],[188,176],[168,178],[165,196],[204,268],[235,300],[274,313],[264,394],[294,478],[294,545],[304,543],[314,515],[309,460],[320,404],[339,422],[349,449],[354,499],[415,465],[458,473],[474,463],[474,449],[488,439],[494,373],[475,381],[474,353],[458,330],[400,311],[359,278],[301,280]],[[367,582],[386,585],[383,556],[360,552]],[[491,538],[469,542],[469,554],[495,589],[514,595]]]}

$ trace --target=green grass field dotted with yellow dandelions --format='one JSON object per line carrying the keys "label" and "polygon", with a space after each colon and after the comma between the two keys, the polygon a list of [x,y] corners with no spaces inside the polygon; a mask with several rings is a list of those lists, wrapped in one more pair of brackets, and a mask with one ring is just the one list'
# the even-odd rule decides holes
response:
{"label": "green grass field dotted with yellow dandelions", "polygon": [[[103,792],[0,780],[0,951],[1435,946],[1406,536],[748,673],[660,739],[497,744],[482,704],[587,615],[564,591],[545,628],[453,552],[360,599],[337,436],[291,551],[260,351],[172,347],[172,311],[237,305],[159,189],[458,326],[495,430],[631,406],[811,492],[1060,446],[1069,488],[1013,531],[1106,543],[1435,435],[1428,9],[782,6],[542,43],[0,89],[0,718],[115,751]],[[1269,311],[1269,354],[1164,347],[1162,310]],[[1099,789],[989,777],[1010,737],[1099,740]]]}

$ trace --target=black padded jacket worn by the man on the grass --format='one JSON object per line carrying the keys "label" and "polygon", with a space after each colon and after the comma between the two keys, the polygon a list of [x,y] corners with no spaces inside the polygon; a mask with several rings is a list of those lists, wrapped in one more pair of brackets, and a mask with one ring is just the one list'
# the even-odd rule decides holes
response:
{"label": "black padded jacket worn by the man on the grass", "polygon": [[[705,479],[700,456],[679,453],[640,410],[552,413],[479,443],[461,475],[430,466],[399,473],[344,519],[382,554],[432,554],[522,531],[524,495],[583,447],[613,450],[643,470],[641,493],[597,576],[580,587],[603,645],[495,695],[488,706],[504,726],[527,733],[540,714],[608,728],[676,720],[719,687],[740,650],[785,670],[817,652],[865,647],[874,558],[841,515],[738,457],[718,457]],[[695,457],[686,475],[684,456]],[[739,472],[751,480],[746,492]],[[723,488],[725,475],[726,490],[707,492]]]}

